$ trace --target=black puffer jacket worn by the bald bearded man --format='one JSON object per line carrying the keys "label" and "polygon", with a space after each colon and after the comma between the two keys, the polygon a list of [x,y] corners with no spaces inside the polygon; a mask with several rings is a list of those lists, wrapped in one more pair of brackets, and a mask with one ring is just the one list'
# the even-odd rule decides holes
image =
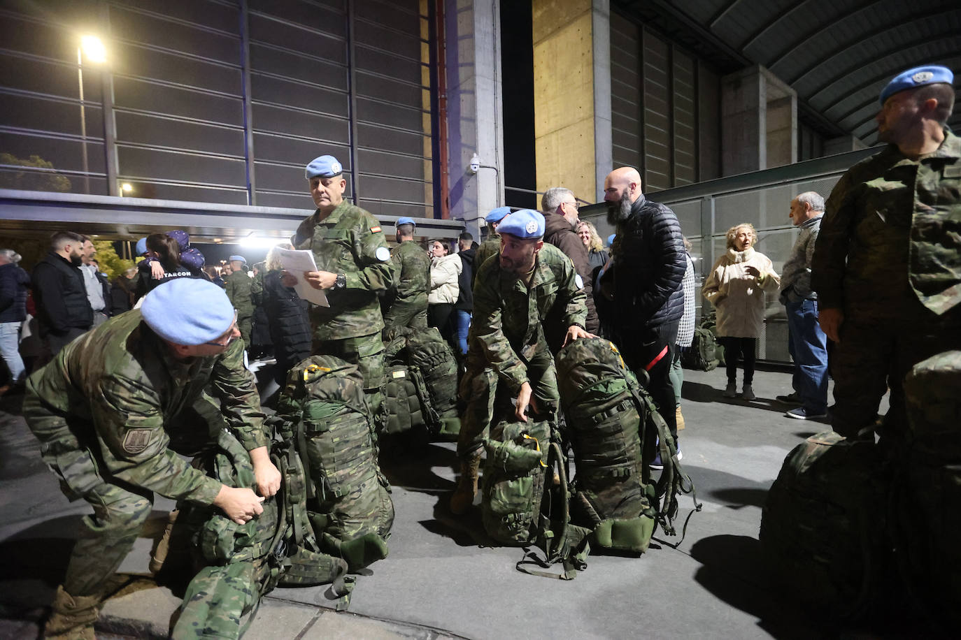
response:
{"label": "black puffer jacket worn by the bald bearded man", "polygon": [[613,291],[612,318],[619,344],[629,344],[633,330],[679,320],[684,313],[680,283],[687,269],[680,224],[668,206],[644,196],[617,225],[611,248],[614,266],[601,278]]}

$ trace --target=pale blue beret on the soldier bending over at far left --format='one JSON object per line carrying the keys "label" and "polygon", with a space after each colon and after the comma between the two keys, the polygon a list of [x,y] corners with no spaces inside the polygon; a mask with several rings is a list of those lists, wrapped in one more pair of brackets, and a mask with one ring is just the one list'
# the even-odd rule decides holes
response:
{"label": "pale blue beret on the soldier bending over at far left", "polygon": [[234,305],[226,292],[200,278],[179,277],[156,287],[140,306],[143,321],[174,344],[204,344],[234,324]]}

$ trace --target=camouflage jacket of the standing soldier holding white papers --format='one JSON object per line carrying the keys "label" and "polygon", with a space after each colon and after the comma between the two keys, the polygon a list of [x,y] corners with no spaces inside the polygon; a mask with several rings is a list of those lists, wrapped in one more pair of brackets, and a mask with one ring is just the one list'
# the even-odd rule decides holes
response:
{"label": "camouflage jacket of the standing soldier holding white papers", "polygon": [[323,220],[315,211],[291,238],[295,249],[310,249],[317,269],[343,273],[346,286],[324,293],[330,307],[312,306],[315,340],[343,340],[377,333],[383,328],[378,292],[393,282],[394,263],[374,216],[342,201]]}

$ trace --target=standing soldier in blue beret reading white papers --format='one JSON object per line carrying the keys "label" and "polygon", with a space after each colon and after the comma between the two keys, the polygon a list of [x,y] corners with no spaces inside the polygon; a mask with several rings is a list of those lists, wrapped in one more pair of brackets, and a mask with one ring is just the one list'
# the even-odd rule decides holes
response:
{"label": "standing soldier in blue beret reading white papers", "polygon": [[332,355],[357,365],[379,429],[384,383],[383,318],[378,294],[394,280],[394,263],[374,216],[343,199],[347,181],[333,155],[314,158],[305,170],[317,210],[297,227],[295,249],[310,249],[315,272],[284,273],[292,287],[298,277],[322,289],[331,306],[311,305],[314,355]]}

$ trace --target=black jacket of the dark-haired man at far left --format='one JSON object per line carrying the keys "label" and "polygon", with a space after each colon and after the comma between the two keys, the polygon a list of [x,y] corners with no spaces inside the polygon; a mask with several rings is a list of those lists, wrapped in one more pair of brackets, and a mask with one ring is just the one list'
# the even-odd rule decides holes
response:
{"label": "black jacket of the dark-haired man at far left", "polygon": [[41,336],[62,336],[70,329],[90,328],[93,309],[86,298],[84,274],[76,265],[51,251],[34,267],[31,278]]}

